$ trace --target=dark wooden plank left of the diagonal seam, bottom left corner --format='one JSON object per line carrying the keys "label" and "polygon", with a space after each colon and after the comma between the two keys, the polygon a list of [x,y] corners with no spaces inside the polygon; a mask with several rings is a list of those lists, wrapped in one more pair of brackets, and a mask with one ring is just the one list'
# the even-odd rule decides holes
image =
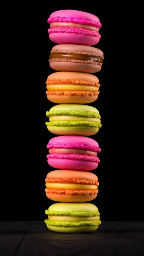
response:
{"label": "dark wooden plank left of the diagonal seam, bottom left corner", "polygon": [[0,221],[0,256],[16,253],[29,224],[29,221]]}

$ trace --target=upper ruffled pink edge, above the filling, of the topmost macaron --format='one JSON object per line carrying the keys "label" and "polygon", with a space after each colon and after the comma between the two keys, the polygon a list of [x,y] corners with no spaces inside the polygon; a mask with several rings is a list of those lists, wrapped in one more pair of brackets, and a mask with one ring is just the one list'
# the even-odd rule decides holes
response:
{"label": "upper ruffled pink edge, above the filling, of the topmost macaron", "polygon": [[72,22],[72,23],[77,23],[77,24],[83,24],[83,25],[88,25],[88,26],[94,26],[98,29],[101,28],[101,23],[98,21],[93,21],[93,20],[86,20],[84,18],[72,18],[72,17],[49,17],[48,18],[48,23],[52,22]]}

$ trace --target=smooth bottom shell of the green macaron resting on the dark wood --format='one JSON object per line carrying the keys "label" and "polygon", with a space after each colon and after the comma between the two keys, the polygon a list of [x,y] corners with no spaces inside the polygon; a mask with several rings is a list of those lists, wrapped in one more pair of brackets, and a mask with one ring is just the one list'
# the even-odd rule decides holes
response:
{"label": "smooth bottom shell of the green macaron resting on the dark wood", "polygon": [[54,227],[46,224],[47,228],[51,231],[58,233],[88,233],[94,232],[98,229],[98,226],[92,227]]}

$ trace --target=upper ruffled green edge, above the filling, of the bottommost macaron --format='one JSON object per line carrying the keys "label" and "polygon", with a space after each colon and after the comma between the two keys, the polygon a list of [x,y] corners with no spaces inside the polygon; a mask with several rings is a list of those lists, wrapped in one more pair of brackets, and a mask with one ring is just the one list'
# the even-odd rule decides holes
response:
{"label": "upper ruffled green edge, above the filling, of the bottommost macaron", "polygon": [[55,215],[55,216],[77,216],[77,217],[94,217],[99,216],[100,213],[98,211],[87,211],[87,212],[70,212],[70,211],[50,211],[46,210],[45,213],[47,215]]}

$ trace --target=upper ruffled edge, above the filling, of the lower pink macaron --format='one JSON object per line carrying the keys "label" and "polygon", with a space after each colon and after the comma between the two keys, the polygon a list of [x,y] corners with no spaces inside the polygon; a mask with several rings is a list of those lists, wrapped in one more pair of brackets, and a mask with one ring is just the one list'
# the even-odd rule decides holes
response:
{"label": "upper ruffled edge, above the filling, of the lower pink macaron", "polygon": [[51,149],[51,148],[77,148],[77,149],[84,149],[84,150],[88,150],[88,151],[94,151],[97,153],[101,152],[101,148],[95,147],[95,146],[91,146],[91,145],[83,145],[83,144],[77,144],[77,143],[49,143],[47,146],[47,148]]}

